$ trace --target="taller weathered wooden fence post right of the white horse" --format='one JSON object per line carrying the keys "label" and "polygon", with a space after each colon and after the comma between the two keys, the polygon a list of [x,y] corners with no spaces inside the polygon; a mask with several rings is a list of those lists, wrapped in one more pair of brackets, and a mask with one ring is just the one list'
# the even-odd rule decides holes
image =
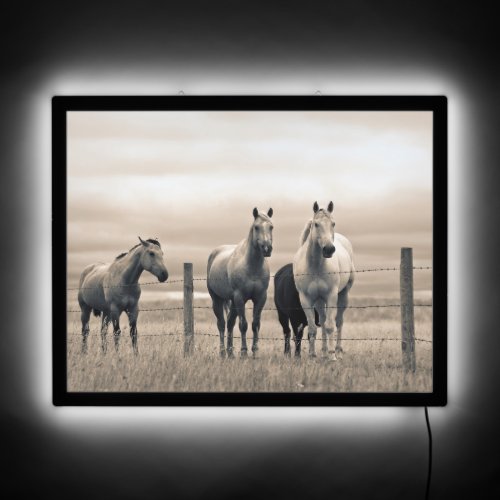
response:
{"label": "taller weathered wooden fence post right of the white horse", "polygon": [[406,372],[415,372],[415,321],[413,315],[413,250],[401,249],[400,268],[401,338],[403,366]]}

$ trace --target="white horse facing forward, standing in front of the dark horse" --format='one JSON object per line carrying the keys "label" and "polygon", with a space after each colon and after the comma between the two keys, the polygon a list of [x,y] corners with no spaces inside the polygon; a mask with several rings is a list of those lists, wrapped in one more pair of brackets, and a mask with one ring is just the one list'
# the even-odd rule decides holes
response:
{"label": "white horse facing forward, standing in front of the dark horse", "polygon": [[313,218],[306,224],[300,238],[300,248],[293,260],[293,275],[300,303],[307,316],[309,355],[315,357],[314,343],[317,327],[314,310],[319,314],[322,328],[322,352],[328,356],[328,341],[332,342],[334,314],[337,343],[333,359],[342,356],[342,325],[348,294],[354,282],[353,250],[350,241],[334,232],[333,202],[328,209],[313,205]]}

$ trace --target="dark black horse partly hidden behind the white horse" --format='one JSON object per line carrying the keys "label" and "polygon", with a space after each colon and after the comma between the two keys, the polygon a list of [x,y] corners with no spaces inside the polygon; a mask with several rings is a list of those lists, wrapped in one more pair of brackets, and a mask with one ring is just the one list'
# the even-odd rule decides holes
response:
{"label": "dark black horse partly hidden behind the white horse", "polygon": [[[290,324],[293,329],[295,356],[300,357],[300,345],[307,317],[300,304],[299,292],[293,279],[293,264],[284,265],[274,276],[274,303],[278,319],[285,334],[285,354],[290,356]],[[318,313],[314,311],[316,326],[319,325]]]}

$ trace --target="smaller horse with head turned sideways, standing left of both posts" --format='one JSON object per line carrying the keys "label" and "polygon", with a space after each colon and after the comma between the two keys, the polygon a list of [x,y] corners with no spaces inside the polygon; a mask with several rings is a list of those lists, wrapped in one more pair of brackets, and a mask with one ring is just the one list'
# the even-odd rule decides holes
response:
{"label": "smaller horse with head turned sideways, standing left of both posts", "polygon": [[87,351],[89,335],[89,319],[91,311],[95,316],[102,314],[101,341],[102,350],[106,352],[106,334],[108,324],[113,323],[115,348],[118,349],[120,339],[120,315],[126,312],[130,324],[130,337],[134,353],[137,347],[137,317],[139,315],[139,297],[141,287],[138,283],[143,271],[154,274],[158,281],[164,282],[168,272],[163,263],[163,251],[157,240],[146,241],[139,237],[140,243],[129,252],[122,253],[112,263],[91,264],[80,277],[78,302],[82,320],[82,351]]}

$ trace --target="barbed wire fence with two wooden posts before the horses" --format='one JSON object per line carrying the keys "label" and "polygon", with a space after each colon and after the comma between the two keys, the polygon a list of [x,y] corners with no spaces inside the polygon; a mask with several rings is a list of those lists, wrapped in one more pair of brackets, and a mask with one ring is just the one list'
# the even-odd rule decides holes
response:
{"label": "barbed wire fence with two wooden posts before the horses", "polygon": [[[367,269],[356,270],[356,274],[359,273],[373,273],[373,272],[388,272],[388,271],[399,271],[400,273],[400,302],[393,304],[365,304],[365,305],[347,305],[343,307],[337,306],[326,306],[327,309],[384,309],[384,308],[400,308],[401,310],[401,338],[388,338],[388,337],[365,337],[365,338],[350,338],[342,337],[342,341],[373,341],[373,342],[393,342],[400,341],[401,349],[403,355],[403,366],[406,371],[415,372],[416,369],[416,354],[415,354],[415,343],[427,343],[432,344],[432,340],[418,338],[415,336],[415,321],[414,321],[414,309],[415,307],[432,307],[432,304],[416,304],[413,298],[413,271],[414,270],[432,270],[432,266],[413,266],[413,252],[411,248],[401,249],[401,266],[400,267],[374,267]],[[350,271],[336,271],[325,274],[343,274],[350,273]],[[303,273],[299,275],[309,275],[315,276],[314,274]],[[297,276],[297,275],[296,275]],[[274,275],[271,275],[274,278]],[[146,281],[140,283],[140,285],[173,285],[173,284],[183,284],[183,305],[175,307],[153,307],[153,308],[141,308],[140,312],[160,312],[160,311],[183,311],[183,328],[184,328],[184,354],[189,356],[192,354],[194,349],[195,335],[200,337],[219,337],[218,333],[201,332],[196,331],[194,328],[194,310],[199,309],[212,309],[212,306],[202,306],[194,305],[194,283],[198,281],[206,282],[207,277],[194,277],[193,276],[193,264],[184,263],[184,278],[177,280],[170,280],[166,282],[159,281]],[[136,286],[134,285],[113,285],[113,287],[128,287]],[[67,291],[77,291],[80,290],[79,287],[70,287],[66,289]],[[298,310],[305,308],[289,308],[287,310]],[[264,307],[262,311],[278,311],[276,307]],[[80,309],[67,309],[67,313],[80,313]],[[179,332],[162,332],[155,334],[141,334],[141,338],[154,338],[154,337],[179,337]],[[234,338],[238,338],[234,335]],[[264,341],[283,341],[284,337],[259,337],[259,340]],[[179,341],[181,341],[179,339]]]}

